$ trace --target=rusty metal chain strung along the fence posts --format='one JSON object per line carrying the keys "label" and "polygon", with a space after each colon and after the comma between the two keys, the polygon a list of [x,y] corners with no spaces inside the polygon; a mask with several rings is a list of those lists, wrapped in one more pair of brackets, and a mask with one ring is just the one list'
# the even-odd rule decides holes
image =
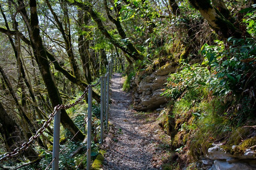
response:
{"label": "rusty metal chain strung along the fence posts", "polygon": [[[108,65],[109,65],[109,64],[110,64],[110,63],[108,63]],[[58,111],[59,109],[68,109],[68,108],[74,107],[75,105],[77,105],[78,103],[80,103],[80,102],[82,101],[82,99],[84,98],[85,94],[88,92],[88,89],[89,89],[90,86],[95,87],[96,85],[98,85],[98,84],[100,83],[101,78],[106,78],[106,77],[108,76],[108,74],[109,74],[109,66],[107,66],[107,68],[108,68],[108,69],[107,69],[108,72],[105,74],[105,76],[104,76],[104,77],[101,76],[101,77],[99,78],[99,80],[98,80],[97,83],[92,84],[92,85],[91,85],[91,84],[88,85],[88,86],[85,88],[83,94],[82,94],[74,103],[69,104],[69,105],[63,105],[63,104],[62,104],[62,105],[55,106],[53,112],[48,116],[49,119],[44,122],[44,125],[42,126],[42,128],[38,129],[37,132],[36,132],[36,134],[35,134],[34,136],[30,137],[29,140],[28,140],[28,142],[24,142],[24,143],[21,145],[21,147],[17,147],[16,149],[14,149],[13,152],[6,152],[6,153],[4,153],[3,155],[0,155],[0,163],[2,163],[3,161],[9,160],[9,159],[11,159],[12,157],[15,157],[15,156],[19,155],[20,152],[23,151],[23,150],[27,150],[27,149],[29,148],[29,145],[30,145],[31,143],[34,143],[35,139],[38,138],[38,137],[40,137],[41,134],[45,131],[45,129],[50,126],[51,121],[53,120],[54,116],[57,114],[57,111]]]}

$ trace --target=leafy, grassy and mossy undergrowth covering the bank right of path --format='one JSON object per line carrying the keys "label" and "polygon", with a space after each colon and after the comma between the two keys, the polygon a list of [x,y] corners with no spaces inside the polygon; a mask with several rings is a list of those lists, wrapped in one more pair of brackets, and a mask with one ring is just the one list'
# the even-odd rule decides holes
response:
{"label": "leafy, grassy and mossy undergrowth covering the bank right of path", "polygon": [[202,47],[203,65],[180,63],[164,92],[171,101],[163,128],[173,137],[180,166],[205,155],[212,143],[237,155],[255,149],[255,40],[215,42]]}

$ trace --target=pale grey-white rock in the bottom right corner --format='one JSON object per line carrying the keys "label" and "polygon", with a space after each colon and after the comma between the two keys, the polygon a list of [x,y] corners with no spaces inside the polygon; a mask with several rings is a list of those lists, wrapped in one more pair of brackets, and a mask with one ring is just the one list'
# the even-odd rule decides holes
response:
{"label": "pale grey-white rock in the bottom right corner", "polygon": [[[198,169],[207,170],[253,170],[256,169],[255,152],[247,149],[242,155],[232,155],[225,152],[222,144],[213,144],[214,146],[208,149],[208,154],[202,160],[196,163]],[[235,145],[233,146],[235,147]]]}

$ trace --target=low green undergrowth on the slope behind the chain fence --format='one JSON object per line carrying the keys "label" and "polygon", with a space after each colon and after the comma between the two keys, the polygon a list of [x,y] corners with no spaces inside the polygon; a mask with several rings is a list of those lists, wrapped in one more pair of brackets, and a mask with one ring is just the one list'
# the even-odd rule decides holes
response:
{"label": "low green undergrowth on the slope behind the chain fence", "polygon": [[[76,96],[81,96],[82,92],[77,92]],[[69,100],[68,103],[75,102],[74,100]],[[75,107],[67,109],[68,115],[72,118],[76,126],[81,129],[84,134],[87,134],[86,129],[86,117],[87,117],[87,109],[88,104],[85,101],[82,104],[78,104]],[[45,120],[38,120],[40,124],[43,125]],[[53,124],[50,126],[53,128]],[[97,155],[99,154],[100,148],[100,106],[93,101],[92,105],[92,152],[91,158],[92,162],[96,159]],[[53,143],[53,137],[45,134]],[[60,153],[59,156],[59,169],[85,169],[86,168],[86,150],[87,144],[83,142],[77,142],[72,139],[73,135],[67,130],[64,129],[63,126],[60,126],[60,150],[63,151]],[[71,140],[72,139],[72,140]],[[82,151],[79,154],[76,154],[75,157],[70,158],[69,155],[76,151],[76,149],[82,146]],[[52,152],[52,145],[48,144],[48,151]],[[35,164],[21,167],[19,169],[46,169],[46,167],[52,162],[52,154],[46,151],[44,148],[39,146],[35,147],[36,151],[39,153],[41,160]],[[13,166],[17,167],[19,165],[24,164],[26,160],[20,159],[20,163],[13,164],[12,162],[5,164],[5,166]]]}

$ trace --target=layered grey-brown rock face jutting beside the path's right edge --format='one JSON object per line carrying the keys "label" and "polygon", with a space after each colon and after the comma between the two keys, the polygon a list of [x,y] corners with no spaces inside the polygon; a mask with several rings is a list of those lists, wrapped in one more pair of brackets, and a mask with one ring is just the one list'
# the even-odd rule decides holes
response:
{"label": "layered grey-brown rock face jutting beside the path's right edge", "polygon": [[166,99],[161,95],[165,91],[167,78],[170,73],[174,73],[176,67],[166,66],[155,72],[140,73],[133,79],[133,109],[149,110],[159,108],[166,103]]}

